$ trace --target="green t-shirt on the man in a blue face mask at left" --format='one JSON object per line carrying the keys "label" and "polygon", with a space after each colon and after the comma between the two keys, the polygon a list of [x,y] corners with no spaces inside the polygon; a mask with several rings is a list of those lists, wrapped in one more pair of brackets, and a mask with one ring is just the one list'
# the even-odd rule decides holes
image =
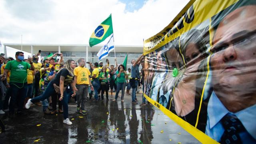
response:
{"label": "green t-shirt on the man in a blue face mask at left", "polygon": [[5,69],[10,70],[10,82],[24,83],[27,82],[27,69],[30,68],[30,64],[27,62],[17,62],[16,60],[9,61]]}

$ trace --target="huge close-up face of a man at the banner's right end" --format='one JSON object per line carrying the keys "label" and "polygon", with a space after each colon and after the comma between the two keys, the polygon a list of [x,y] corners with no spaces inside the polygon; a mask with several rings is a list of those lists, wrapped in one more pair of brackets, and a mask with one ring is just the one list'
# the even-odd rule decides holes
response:
{"label": "huge close-up face of a man at the banner's right end", "polygon": [[243,6],[228,14],[220,22],[213,44],[210,63],[214,90],[223,89],[222,96],[230,90],[241,94],[255,91],[256,6]]}

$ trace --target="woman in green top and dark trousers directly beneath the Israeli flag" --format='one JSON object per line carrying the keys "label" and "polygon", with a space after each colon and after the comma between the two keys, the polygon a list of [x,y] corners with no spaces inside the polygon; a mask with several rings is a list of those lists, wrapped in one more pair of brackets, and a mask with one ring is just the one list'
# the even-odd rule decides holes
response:
{"label": "woman in green top and dark trousers directly beneath the Israeli flag", "polygon": [[106,92],[106,98],[107,101],[109,101],[108,99],[108,90],[109,90],[109,86],[108,86],[108,72],[106,72],[106,67],[102,67],[102,71],[100,72],[100,88],[101,88],[101,100],[104,100],[104,92]]}

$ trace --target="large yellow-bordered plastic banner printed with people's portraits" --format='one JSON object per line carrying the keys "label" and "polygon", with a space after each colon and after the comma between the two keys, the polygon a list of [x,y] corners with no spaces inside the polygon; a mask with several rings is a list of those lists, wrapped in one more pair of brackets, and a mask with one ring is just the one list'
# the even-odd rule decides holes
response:
{"label": "large yellow-bordered plastic banner printed with people's portraits", "polygon": [[255,0],[191,0],[144,55],[154,106],[202,143],[256,143]]}

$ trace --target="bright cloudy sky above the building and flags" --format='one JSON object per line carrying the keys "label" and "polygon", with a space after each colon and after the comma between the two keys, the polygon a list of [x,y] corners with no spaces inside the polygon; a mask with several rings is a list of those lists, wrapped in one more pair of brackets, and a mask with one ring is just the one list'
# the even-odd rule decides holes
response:
{"label": "bright cloudy sky above the building and flags", "polygon": [[[88,44],[112,13],[116,45],[143,45],[189,0],[0,0],[0,41],[23,44]],[[1,50],[2,51],[2,50]]]}

